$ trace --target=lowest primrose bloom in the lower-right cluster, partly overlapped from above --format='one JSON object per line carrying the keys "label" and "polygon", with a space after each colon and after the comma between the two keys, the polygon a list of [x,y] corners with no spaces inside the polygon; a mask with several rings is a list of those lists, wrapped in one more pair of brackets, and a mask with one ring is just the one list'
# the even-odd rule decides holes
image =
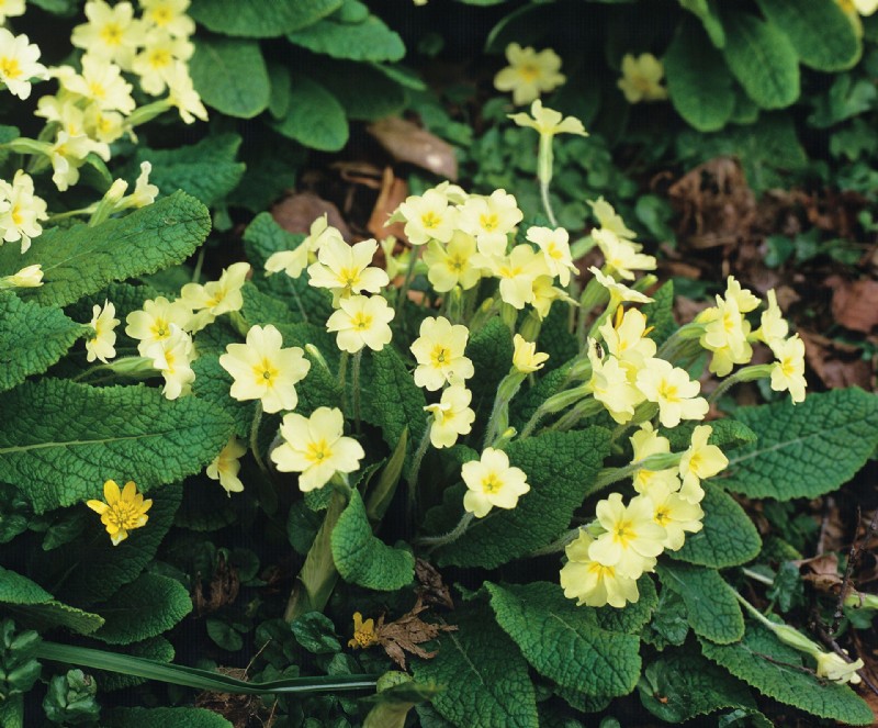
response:
{"label": "lowest primrose bloom in the lower-right cluster, partly overlapped from above", "polygon": [[564,547],[567,562],[561,568],[560,574],[564,596],[576,600],[576,606],[601,607],[609,604],[622,608],[629,602],[637,602],[640,594],[635,579],[621,576],[615,567],[605,567],[588,556],[594,540],[581,529],[576,540]]}

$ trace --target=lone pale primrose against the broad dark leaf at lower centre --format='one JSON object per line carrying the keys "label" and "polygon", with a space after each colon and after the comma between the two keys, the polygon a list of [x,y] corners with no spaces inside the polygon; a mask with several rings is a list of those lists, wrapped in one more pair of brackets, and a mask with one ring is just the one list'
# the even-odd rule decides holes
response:
{"label": "lone pale primrose against the broad dark leaf at lower centre", "polygon": [[493,447],[485,448],[480,460],[464,462],[461,477],[468,488],[463,509],[476,518],[484,518],[494,506],[514,508],[530,490],[527,473],[510,467],[509,457]]}

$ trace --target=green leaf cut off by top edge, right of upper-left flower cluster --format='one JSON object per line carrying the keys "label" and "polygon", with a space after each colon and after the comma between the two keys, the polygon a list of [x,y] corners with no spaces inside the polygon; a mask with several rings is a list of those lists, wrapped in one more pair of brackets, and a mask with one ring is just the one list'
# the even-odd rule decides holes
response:
{"label": "green leaf cut off by top edge, right of upper-left flower cluster", "polygon": [[341,7],[342,0],[193,0],[189,14],[214,33],[274,38],[313,25]]}

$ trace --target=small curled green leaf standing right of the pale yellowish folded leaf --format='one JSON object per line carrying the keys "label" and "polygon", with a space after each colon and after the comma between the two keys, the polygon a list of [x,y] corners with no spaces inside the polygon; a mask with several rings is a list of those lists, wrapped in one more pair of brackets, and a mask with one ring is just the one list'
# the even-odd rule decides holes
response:
{"label": "small curled green leaf standing right of the pale yellowish folded leaf", "polygon": [[412,583],[415,557],[394,549],[372,535],[365,506],[358,491],[333,529],[333,561],[346,582],[379,592],[393,592]]}

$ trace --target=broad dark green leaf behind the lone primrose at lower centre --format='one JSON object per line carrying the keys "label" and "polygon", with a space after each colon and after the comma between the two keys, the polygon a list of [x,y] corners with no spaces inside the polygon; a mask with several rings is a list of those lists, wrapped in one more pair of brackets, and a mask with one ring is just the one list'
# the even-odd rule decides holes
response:
{"label": "broad dark green leaf behind the lone primrose at lower centre", "polygon": [[438,562],[493,569],[550,544],[570,526],[608,451],[609,433],[600,427],[513,441],[506,453],[527,473],[530,491],[511,511],[476,519],[437,551]]}

